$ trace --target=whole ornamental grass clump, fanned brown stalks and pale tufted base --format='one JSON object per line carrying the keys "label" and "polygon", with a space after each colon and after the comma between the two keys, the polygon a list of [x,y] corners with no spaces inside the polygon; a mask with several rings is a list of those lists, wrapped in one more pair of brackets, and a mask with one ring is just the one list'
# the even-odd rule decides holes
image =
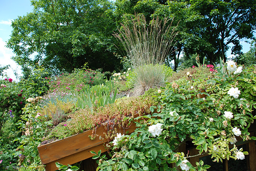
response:
{"label": "whole ornamental grass clump, fanned brown stalks and pale tufted base", "polygon": [[170,20],[153,18],[146,22],[144,15],[135,15],[131,22],[122,24],[122,30],[114,34],[125,48],[134,73],[128,78],[128,86],[134,88],[136,96],[149,88],[164,86],[168,78],[167,70],[160,65],[172,52],[176,27],[168,24]]}

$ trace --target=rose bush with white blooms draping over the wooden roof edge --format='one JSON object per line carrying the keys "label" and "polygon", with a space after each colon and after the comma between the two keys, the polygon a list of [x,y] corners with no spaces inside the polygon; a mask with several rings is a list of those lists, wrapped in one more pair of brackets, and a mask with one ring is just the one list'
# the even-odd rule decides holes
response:
{"label": "rose bush with white blooms draping over the wooden roof edge", "polygon": [[[152,112],[157,112],[136,118],[138,128],[114,142],[111,159],[95,155],[94,158],[99,158],[97,170],[209,168],[203,161],[191,165],[190,158],[194,156],[179,149],[186,141],[196,146],[199,155],[208,153],[214,161],[243,160],[248,152],[237,149],[235,142],[239,138],[255,140],[248,128],[255,119],[256,69],[249,67],[234,74],[234,65],[232,72],[216,73],[209,78],[205,92],[185,88],[186,85],[172,87],[172,83],[161,88],[160,104],[151,107]],[[235,91],[233,96],[228,93],[230,89],[240,92]]]}

